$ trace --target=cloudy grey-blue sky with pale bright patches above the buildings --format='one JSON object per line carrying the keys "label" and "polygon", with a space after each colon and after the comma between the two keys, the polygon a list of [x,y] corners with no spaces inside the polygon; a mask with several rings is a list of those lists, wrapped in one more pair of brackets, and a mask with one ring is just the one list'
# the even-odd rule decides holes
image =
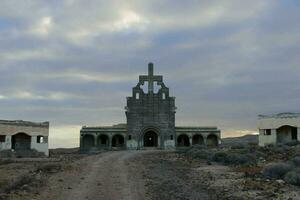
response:
{"label": "cloudy grey-blue sky with pale bright patches above the buildings", "polygon": [[2,0],[1,119],[50,121],[50,147],[82,125],[126,122],[154,62],[177,125],[256,132],[258,114],[299,111],[298,0]]}

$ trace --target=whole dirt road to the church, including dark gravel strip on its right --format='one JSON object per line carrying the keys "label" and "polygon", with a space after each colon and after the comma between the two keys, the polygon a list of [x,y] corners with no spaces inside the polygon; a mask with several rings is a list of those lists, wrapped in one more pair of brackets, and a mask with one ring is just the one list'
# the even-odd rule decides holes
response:
{"label": "whole dirt road to the church, including dark gravel strip on its right", "polygon": [[85,157],[71,167],[50,176],[36,199],[209,199],[191,178],[189,166],[172,152],[112,151]]}

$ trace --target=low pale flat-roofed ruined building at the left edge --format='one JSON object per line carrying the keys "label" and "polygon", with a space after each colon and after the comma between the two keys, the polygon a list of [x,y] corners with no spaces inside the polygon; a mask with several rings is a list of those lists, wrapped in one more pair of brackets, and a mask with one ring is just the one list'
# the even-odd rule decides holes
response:
{"label": "low pale flat-roofed ruined building at the left edge", "polygon": [[35,149],[49,155],[49,122],[0,120],[0,151]]}

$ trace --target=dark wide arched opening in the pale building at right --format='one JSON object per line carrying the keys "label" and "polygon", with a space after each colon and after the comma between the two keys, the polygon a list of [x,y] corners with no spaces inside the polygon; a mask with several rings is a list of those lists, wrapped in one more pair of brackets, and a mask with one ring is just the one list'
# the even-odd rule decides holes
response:
{"label": "dark wide arched opening in the pale building at right", "polygon": [[297,140],[298,130],[297,127],[285,125],[279,127],[277,130],[277,142],[285,143],[292,140]]}

